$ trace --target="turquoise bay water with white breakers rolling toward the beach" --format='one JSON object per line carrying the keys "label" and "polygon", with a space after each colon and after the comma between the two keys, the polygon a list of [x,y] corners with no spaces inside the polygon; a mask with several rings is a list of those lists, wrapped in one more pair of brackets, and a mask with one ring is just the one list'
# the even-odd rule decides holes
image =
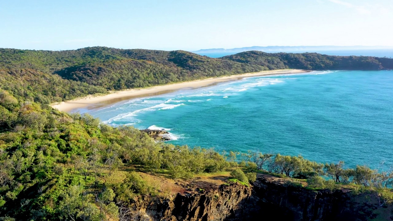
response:
{"label": "turquoise bay water with white breakers rolling toward the beach", "polygon": [[393,165],[393,71],[250,77],[91,114],[115,126],[165,128],[173,144]]}

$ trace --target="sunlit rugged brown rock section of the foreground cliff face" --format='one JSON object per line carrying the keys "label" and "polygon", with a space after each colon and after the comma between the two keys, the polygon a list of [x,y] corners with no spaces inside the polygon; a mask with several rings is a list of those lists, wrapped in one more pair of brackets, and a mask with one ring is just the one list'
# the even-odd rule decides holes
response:
{"label": "sunlit rugged brown rock section of the foreground cliff face", "polygon": [[241,184],[221,185],[208,192],[178,193],[173,199],[157,198],[144,205],[143,210],[153,220],[162,221],[224,221],[241,220],[244,201],[252,188]]}

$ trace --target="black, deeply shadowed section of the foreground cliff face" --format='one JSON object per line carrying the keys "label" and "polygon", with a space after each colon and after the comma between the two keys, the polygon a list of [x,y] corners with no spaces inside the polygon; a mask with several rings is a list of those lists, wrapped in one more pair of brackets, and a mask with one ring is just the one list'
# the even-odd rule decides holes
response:
{"label": "black, deeply shadowed section of the foreground cliff face", "polygon": [[370,203],[362,204],[349,191],[307,190],[259,177],[254,183],[252,215],[270,213],[279,220],[294,221],[360,221],[372,218],[376,209]]}

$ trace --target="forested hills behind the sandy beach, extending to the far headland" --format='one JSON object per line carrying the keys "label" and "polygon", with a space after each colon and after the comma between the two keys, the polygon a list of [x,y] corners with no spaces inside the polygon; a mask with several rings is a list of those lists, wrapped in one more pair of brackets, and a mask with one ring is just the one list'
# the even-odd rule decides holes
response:
{"label": "forested hills behind the sandy beach, extending to the far headland", "polygon": [[185,51],[91,47],[68,51],[0,49],[0,88],[16,98],[58,102],[108,90],[296,68],[384,70],[393,59],[317,53],[242,52],[210,58]]}

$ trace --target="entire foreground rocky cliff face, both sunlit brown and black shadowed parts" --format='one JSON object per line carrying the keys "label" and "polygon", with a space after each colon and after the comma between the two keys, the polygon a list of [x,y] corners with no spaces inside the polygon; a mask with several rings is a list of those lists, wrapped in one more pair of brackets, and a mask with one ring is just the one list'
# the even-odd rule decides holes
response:
{"label": "entire foreground rocky cliff face, both sunlit brown and black shadowed parts", "polygon": [[372,194],[313,191],[288,186],[285,179],[271,176],[259,176],[252,187],[221,185],[207,192],[156,198],[139,207],[151,219],[164,221],[393,220],[392,207],[378,207]]}

